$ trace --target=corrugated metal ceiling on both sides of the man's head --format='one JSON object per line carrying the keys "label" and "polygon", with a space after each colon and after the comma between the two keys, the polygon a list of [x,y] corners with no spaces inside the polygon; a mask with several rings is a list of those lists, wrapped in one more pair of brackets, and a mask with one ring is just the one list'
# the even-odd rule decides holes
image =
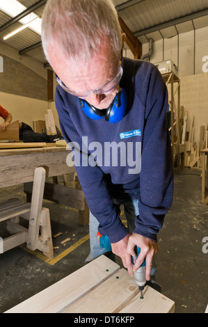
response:
{"label": "corrugated metal ceiling on both sides of the man's head", "polygon": [[[40,1],[19,0],[19,2],[29,8]],[[150,37],[156,41],[208,26],[208,0],[113,0],[113,3],[118,15],[141,43],[147,42]],[[41,17],[43,9],[44,6],[41,6],[33,12]],[[0,10],[0,29],[10,19],[11,17]],[[15,22],[0,32],[0,53],[2,42],[21,51],[41,41],[40,35],[29,28],[3,41],[3,36],[18,26],[21,24]],[[24,56],[32,56],[46,63],[41,46],[26,52]]]}

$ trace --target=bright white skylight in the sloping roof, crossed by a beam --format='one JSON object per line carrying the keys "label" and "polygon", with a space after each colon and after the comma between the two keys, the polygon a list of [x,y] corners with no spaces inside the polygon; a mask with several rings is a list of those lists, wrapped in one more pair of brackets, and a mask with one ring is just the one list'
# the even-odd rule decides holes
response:
{"label": "bright white skylight in the sloping roof, crossed by a beam", "polygon": [[[17,0],[0,0],[0,10],[3,11],[3,13],[9,15],[10,17],[16,17],[25,9],[26,7],[23,6],[22,3]],[[19,23],[23,25],[28,24],[29,22],[31,22],[31,24],[29,24],[29,28],[35,31],[35,33],[41,35],[41,19],[37,15],[35,15],[35,13],[30,13],[29,15],[19,20]]]}

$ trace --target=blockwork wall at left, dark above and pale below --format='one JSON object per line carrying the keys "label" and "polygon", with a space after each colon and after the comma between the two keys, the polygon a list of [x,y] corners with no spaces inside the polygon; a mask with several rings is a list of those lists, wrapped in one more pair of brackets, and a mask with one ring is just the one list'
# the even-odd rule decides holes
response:
{"label": "blockwork wall at left, dark above and pale below", "polygon": [[4,71],[0,73],[0,104],[12,113],[13,121],[31,127],[33,120],[45,120],[47,109],[51,109],[60,129],[56,106],[47,102],[47,69],[30,56],[19,56],[19,51],[1,41],[0,49]]}

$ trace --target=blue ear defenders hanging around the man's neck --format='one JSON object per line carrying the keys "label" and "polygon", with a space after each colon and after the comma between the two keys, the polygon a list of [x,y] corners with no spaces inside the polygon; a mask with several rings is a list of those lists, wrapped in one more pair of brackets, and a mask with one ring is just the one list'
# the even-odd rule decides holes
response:
{"label": "blue ear defenders hanging around the man's neck", "polygon": [[106,110],[100,110],[86,102],[84,99],[79,99],[81,108],[86,115],[95,120],[105,118],[107,122],[119,122],[125,117],[127,112],[127,93],[123,88],[120,88],[119,93]]}

